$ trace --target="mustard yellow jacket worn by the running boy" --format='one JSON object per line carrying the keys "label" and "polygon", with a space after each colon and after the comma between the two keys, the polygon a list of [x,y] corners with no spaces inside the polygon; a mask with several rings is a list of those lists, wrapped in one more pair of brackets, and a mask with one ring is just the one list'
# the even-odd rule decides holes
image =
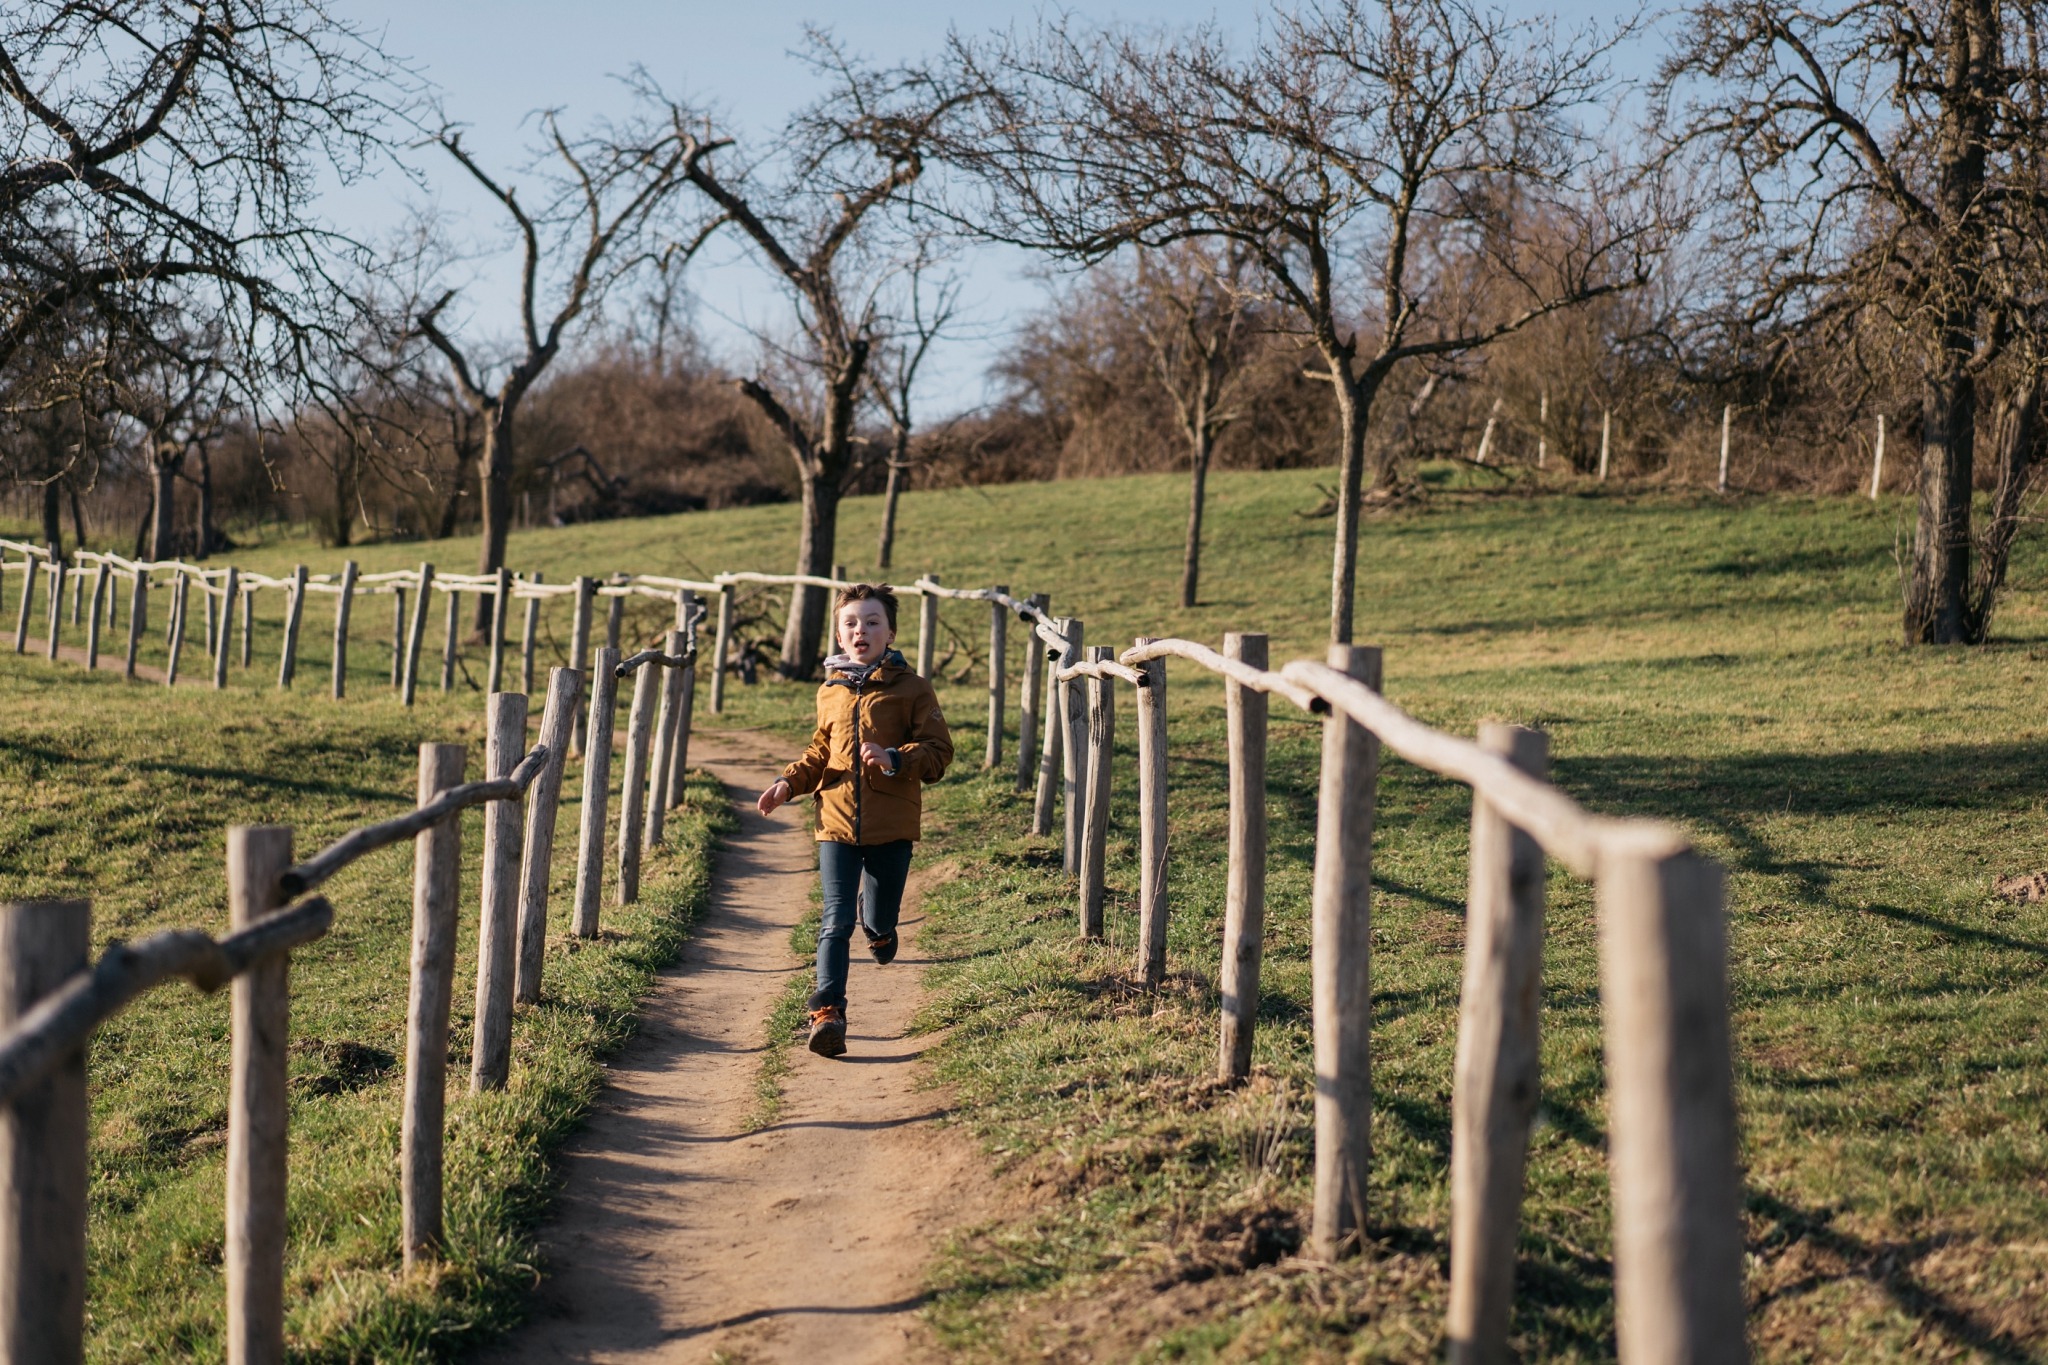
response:
{"label": "mustard yellow jacket worn by the running boy", "polygon": [[[860,763],[860,745],[895,749],[893,778]],[[866,681],[838,669],[817,690],[817,731],[803,757],[782,769],[791,796],[815,794],[819,843],[915,839],[924,784],[952,763],[952,735],[932,684],[891,651]]]}

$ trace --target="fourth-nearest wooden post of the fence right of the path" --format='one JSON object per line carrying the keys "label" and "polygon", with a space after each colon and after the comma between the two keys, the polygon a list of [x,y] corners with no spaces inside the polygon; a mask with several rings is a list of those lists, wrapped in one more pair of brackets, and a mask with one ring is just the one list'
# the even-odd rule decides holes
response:
{"label": "fourth-nearest wooden post of the fence right of the path", "polygon": [[[1223,657],[1264,669],[1266,636],[1231,630]],[[1251,1036],[1260,1017],[1260,968],[1266,962],[1266,694],[1225,679],[1231,751],[1229,874],[1223,892],[1223,1025],[1217,1074],[1251,1074]]]}

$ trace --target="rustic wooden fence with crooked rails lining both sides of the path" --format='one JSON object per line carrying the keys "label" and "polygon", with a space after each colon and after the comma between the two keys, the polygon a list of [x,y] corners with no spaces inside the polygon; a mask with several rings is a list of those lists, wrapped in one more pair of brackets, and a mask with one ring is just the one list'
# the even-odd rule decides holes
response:
{"label": "rustic wooden fence with crooked rails lining both sides of the path", "polygon": [[[0,544],[20,548],[14,542]],[[35,555],[29,555],[25,577],[31,587],[37,563]],[[94,600],[98,600],[98,587],[123,571],[123,565],[113,563],[113,557],[94,557],[94,563],[98,565]],[[127,567],[135,583],[158,569]],[[180,567],[182,579],[197,581],[197,573]],[[303,569],[289,581],[238,575],[233,569],[205,573],[217,575],[223,602],[231,602],[233,591],[248,591],[246,585],[252,581],[289,583],[293,602],[317,585]],[[336,581],[342,598],[338,618],[346,618],[350,587],[362,591],[365,585],[377,589],[406,583],[414,587],[416,602],[424,598],[426,587],[494,593],[500,604],[494,657],[502,655],[504,616],[514,596],[539,602],[575,593],[575,661],[590,657],[586,655],[590,602],[596,593],[612,593],[614,600],[625,593],[674,596],[676,630],[659,649],[621,657],[614,634],[592,657],[594,686],[588,710],[582,712],[588,741],[582,747],[584,819],[571,931],[594,935],[608,821],[616,684],[633,675],[616,823],[618,900],[629,902],[639,888],[641,849],[659,841],[666,810],[682,800],[696,681],[696,628],[709,612],[696,593],[717,593],[719,600],[713,659],[721,667],[711,671],[711,710],[717,712],[723,708],[723,679],[729,671],[735,587],[741,583],[838,587],[844,579],[729,573],[711,583],[631,577],[600,587],[596,579],[543,585],[537,575],[514,579],[506,571],[492,579],[442,579],[426,565],[416,575],[358,577],[348,569]],[[1229,718],[1229,874],[1217,1068],[1225,1081],[1239,1081],[1249,1072],[1257,1019],[1266,919],[1268,698],[1278,696],[1323,718],[1311,892],[1317,1078],[1311,1250],[1319,1257],[1356,1250],[1366,1226],[1372,1164],[1370,892],[1380,753],[1391,751],[1473,788],[1464,986],[1452,1095],[1452,1275],[1446,1328],[1450,1357],[1460,1363],[1507,1359],[1516,1230],[1528,1134],[1540,1093],[1536,1042],[1544,855],[1575,876],[1589,878],[1599,917],[1620,1357],[1694,1363],[1745,1359],[1726,923],[1722,874],[1716,864],[1698,855],[1669,825],[1599,817],[1550,786],[1544,780],[1548,745],[1540,731],[1485,726],[1475,743],[1434,731],[1405,714],[1380,696],[1376,649],[1339,645],[1331,647],[1325,661],[1296,659],[1280,669],[1268,667],[1262,634],[1231,634],[1221,653],[1194,641],[1139,636],[1133,647],[1114,655],[1100,645],[1083,647],[1083,622],[1051,616],[1044,596],[1020,600],[1010,596],[1008,587],[944,587],[932,577],[922,577],[899,591],[920,598],[922,673],[932,667],[940,604],[987,606],[991,655],[989,739],[983,753],[987,769],[1001,767],[1008,684],[999,661],[1008,647],[1008,622],[1014,616],[1028,626],[1026,667],[1018,679],[1016,786],[1034,794],[1036,833],[1051,835],[1055,810],[1065,814],[1061,847],[1067,870],[1077,878],[1077,921],[1085,937],[1100,937],[1104,923],[1108,821],[1116,784],[1116,696],[1120,686],[1135,692],[1141,864],[1135,974],[1145,984],[1159,984],[1165,974],[1171,905],[1165,665],[1167,659],[1180,659],[1223,675]],[[137,600],[139,596],[137,587]],[[59,598],[61,589],[51,593],[51,602]],[[27,591],[23,602],[29,602]],[[451,620],[453,616],[451,598]],[[131,616],[131,626],[133,620]],[[221,620],[225,622],[225,610]],[[408,675],[418,657],[422,620],[424,612],[416,608]],[[221,634],[225,636],[225,626]],[[526,639],[530,655],[530,624]],[[291,649],[293,636],[287,628],[285,665],[281,665],[287,681]],[[219,645],[219,651],[223,653],[225,645]],[[1042,665],[1036,651],[1042,651]],[[494,663],[494,673],[496,667]],[[512,1001],[530,1001],[539,995],[547,925],[545,868],[563,772],[559,755],[569,749],[565,741],[575,731],[580,690],[580,671],[553,671],[541,743],[516,769],[512,759],[522,739],[512,737],[524,737],[526,698],[522,694],[489,698],[492,774],[500,782],[518,780],[528,790],[528,810],[522,837],[522,817],[512,800],[494,794],[469,798],[500,800],[485,821],[477,1042],[471,1066],[471,1085],[477,1089],[504,1085]],[[340,696],[340,681],[336,694]],[[55,1342],[51,1351],[39,1349],[29,1355],[0,1351],[0,1361],[76,1359],[82,1300],[76,1287],[57,1293],[55,1285],[78,1285],[84,1273],[82,1044],[92,1025],[170,974],[190,976],[203,988],[227,978],[238,982],[229,1244],[233,1248],[236,1238],[244,1238],[248,1246],[229,1252],[231,1359],[276,1359],[281,1285],[274,1267],[283,1254],[283,1015],[264,1015],[262,1019],[270,1023],[262,1023],[254,1013],[246,1019],[240,993],[270,1001],[266,1009],[283,1009],[283,948],[324,931],[330,911],[317,900],[305,900],[283,913],[276,913],[276,907],[303,896],[350,857],[399,837],[418,839],[414,1009],[408,1031],[403,1130],[406,1254],[408,1259],[432,1254],[438,1238],[436,1058],[444,1056],[446,1040],[453,886],[459,857],[455,821],[446,819],[442,806],[457,792],[489,786],[457,788],[430,802],[430,796],[449,790],[459,778],[461,747],[426,745],[420,765],[420,810],[358,831],[299,870],[287,868],[289,831],[281,831],[283,843],[279,833],[236,831],[229,880],[231,888],[240,888],[231,894],[238,933],[221,943],[195,931],[176,931],[135,948],[113,948],[88,970],[82,905],[10,907],[0,917],[0,1011],[4,1011],[0,1023],[12,1023],[0,1038],[0,1105],[10,1105],[6,1124],[12,1126],[8,1132],[16,1134],[14,1150],[37,1152],[29,1166],[16,1158],[0,1169],[0,1179],[16,1181],[16,1197],[0,1201],[0,1293],[16,1306],[12,1324],[6,1324],[12,1340]],[[403,829],[389,837],[381,833],[399,827]],[[326,872],[315,878],[307,876],[305,868],[326,868]],[[315,921],[319,929],[305,927]],[[293,933],[305,937],[291,937]],[[248,935],[285,937],[272,941]],[[164,945],[154,948],[160,941]],[[150,964],[174,960],[188,966],[129,966],[135,960]],[[258,972],[252,964],[264,966]],[[100,986],[102,976],[139,984]],[[258,1128],[252,1128],[258,1115],[244,1113],[246,1050],[252,1068],[260,1062],[266,1087],[262,1103],[268,1107],[262,1109]],[[236,1132],[244,1134],[240,1142],[233,1138]],[[23,1148],[18,1146],[23,1142],[37,1146]],[[63,1173],[61,1197],[25,1201],[18,1197],[23,1177],[14,1173],[41,1169],[43,1162],[49,1171]],[[233,1175],[236,1162],[258,1164]],[[260,1201],[264,1212],[250,1214],[250,1201]],[[63,1230],[55,1230],[53,1222],[61,1222]],[[244,1224],[252,1232],[236,1232]],[[6,1248],[25,1244],[59,1248],[61,1257],[8,1257]],[[260,1275],[248,1269],[254,1265],[250,1257],[262,1261]],[[244,1269],[238,1271],[238,1265]],[[240,1300],[250,1304],[238,1308]],[[23,1326],[31,1318],[35,1326]]]}

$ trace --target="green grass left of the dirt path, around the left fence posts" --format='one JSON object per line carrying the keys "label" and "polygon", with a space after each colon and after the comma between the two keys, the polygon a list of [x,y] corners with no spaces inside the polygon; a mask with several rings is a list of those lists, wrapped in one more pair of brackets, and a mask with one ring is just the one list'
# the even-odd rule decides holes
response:
{"label": "green grass left of the dirt path, around the left fence posts", "polygon": [[[285,823],[301,853],[412,804],[420,741],[461,739],[481,772],[481,708],[428,698],[334,706],[240,688],[166,692],[76,665],[0,659],[0,896],[90,894],[94,943],[170,927],[225,931],[231,823]],[[569,774],[573,778],[573,772]],[[575,782],[567,784],[578,788]],[[578,788],[580,792],[580,788]],[[614,806],[616,808],[616,806]],[[557,823],[553,896],[573,886],[580,800]],[[451,1038],[449,1254],[399,1273],[399,1062],[412,855],[356,864],[328,894],[334,931],[293,954],[287,1332],[303,1361],[444,1359],[518,1320],[551,1152],[633,1031],[653,972],[707,898],[729,823],[696,776],[641,902],[602,937],[551,935],[543,1001],[514,1021],[512,1085],[467,1093],[481,814],[465,819]],[[559,923],[559,921],[557,921]],[[227,999],[174,984],[92,1042],[90,1359],[223,1353]]]}

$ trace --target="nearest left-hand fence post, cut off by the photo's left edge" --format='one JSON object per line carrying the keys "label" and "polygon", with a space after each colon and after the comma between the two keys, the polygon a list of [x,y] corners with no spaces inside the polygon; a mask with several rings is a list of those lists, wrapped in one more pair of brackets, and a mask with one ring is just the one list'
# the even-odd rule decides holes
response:
{"label": "nearest left-hand fence post, cut off by the photo's left edge", "polygon": [[[90,900],[0,905],[0,1029],[86,970]],[[86,1359],[86,1050],[0,1109],[0,1363]]]}

